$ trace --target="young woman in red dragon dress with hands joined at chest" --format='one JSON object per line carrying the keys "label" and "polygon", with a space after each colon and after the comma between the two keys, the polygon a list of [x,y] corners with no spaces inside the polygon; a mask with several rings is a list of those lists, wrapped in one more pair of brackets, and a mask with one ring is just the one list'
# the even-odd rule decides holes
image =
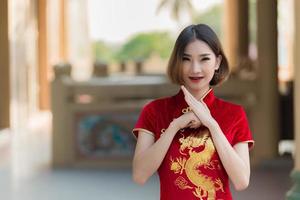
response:
{"label": "young woman in red dragon dress with hands joined at chest", "polygon": [[228,73],[209,26],[191,25],[180,33],[168,75],[181,89],[145,105],[133,129],[136,183],[144,184],[158,171],[163,200],[230,200],[229,179],[237,190],[248,186],[254,141],[246,114],[212,89]]}

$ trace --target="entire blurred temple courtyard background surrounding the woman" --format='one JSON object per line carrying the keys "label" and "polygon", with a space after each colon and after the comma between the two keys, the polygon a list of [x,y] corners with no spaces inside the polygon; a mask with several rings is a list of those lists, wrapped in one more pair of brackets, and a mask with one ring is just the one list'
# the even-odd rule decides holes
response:
{"label": "entire blurred temple courtyard background surrounding the woman", "polygon": [[229,59],[215,93],[244,106],[255,140],[250,185],[234,199],[300,199],[299,10],[298,0],[1,0],[1,199],[159,199],[157,175],[131,180],[131,130],[145,103],[179,90],[168,58],[197,23]]}

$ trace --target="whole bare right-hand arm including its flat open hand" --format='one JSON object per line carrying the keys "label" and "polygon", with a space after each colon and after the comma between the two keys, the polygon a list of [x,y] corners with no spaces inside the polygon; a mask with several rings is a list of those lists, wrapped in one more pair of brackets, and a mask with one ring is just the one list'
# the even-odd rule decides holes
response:
{"label": "whole bare right-hand arm including its flat open hand", "polygon": [[201,123],[210,130],[221,162],[230,180],[233,182],[235,189],[246,189],[250,179],[248,144],[238,143],[232,147],[217,121],[211,116],[206,104],[196,100],[183,86],[182,90],[188,105],[192,108]]}

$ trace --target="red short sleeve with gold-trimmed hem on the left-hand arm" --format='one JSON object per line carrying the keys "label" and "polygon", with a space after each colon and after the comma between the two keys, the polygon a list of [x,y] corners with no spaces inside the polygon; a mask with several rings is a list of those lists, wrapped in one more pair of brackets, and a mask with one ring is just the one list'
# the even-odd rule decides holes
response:
{"label": "red short sleeve with gold-trimmed hem on the left-hand arm", "polygon": [[145,133],[148,133],[155,136],[155,109],[153,107],[153,102],[150,102],[146,104],[141,113],[140,116],[134,126],[134,129],[132,130],[133,135],[137,138],[139,131],[144,131]]}

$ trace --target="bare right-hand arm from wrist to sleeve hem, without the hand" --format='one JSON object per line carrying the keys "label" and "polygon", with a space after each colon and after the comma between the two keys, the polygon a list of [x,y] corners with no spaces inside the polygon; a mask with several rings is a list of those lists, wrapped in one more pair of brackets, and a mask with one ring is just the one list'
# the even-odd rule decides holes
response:
{"label": "bare right-hand arm from wrist to sleeve hem, without the hand", "polygon": [[217,122],[212,123],[208,129],[221,162],[235,189],[246,189],[250,179],[248,143],[240,142],[232,147]]}

